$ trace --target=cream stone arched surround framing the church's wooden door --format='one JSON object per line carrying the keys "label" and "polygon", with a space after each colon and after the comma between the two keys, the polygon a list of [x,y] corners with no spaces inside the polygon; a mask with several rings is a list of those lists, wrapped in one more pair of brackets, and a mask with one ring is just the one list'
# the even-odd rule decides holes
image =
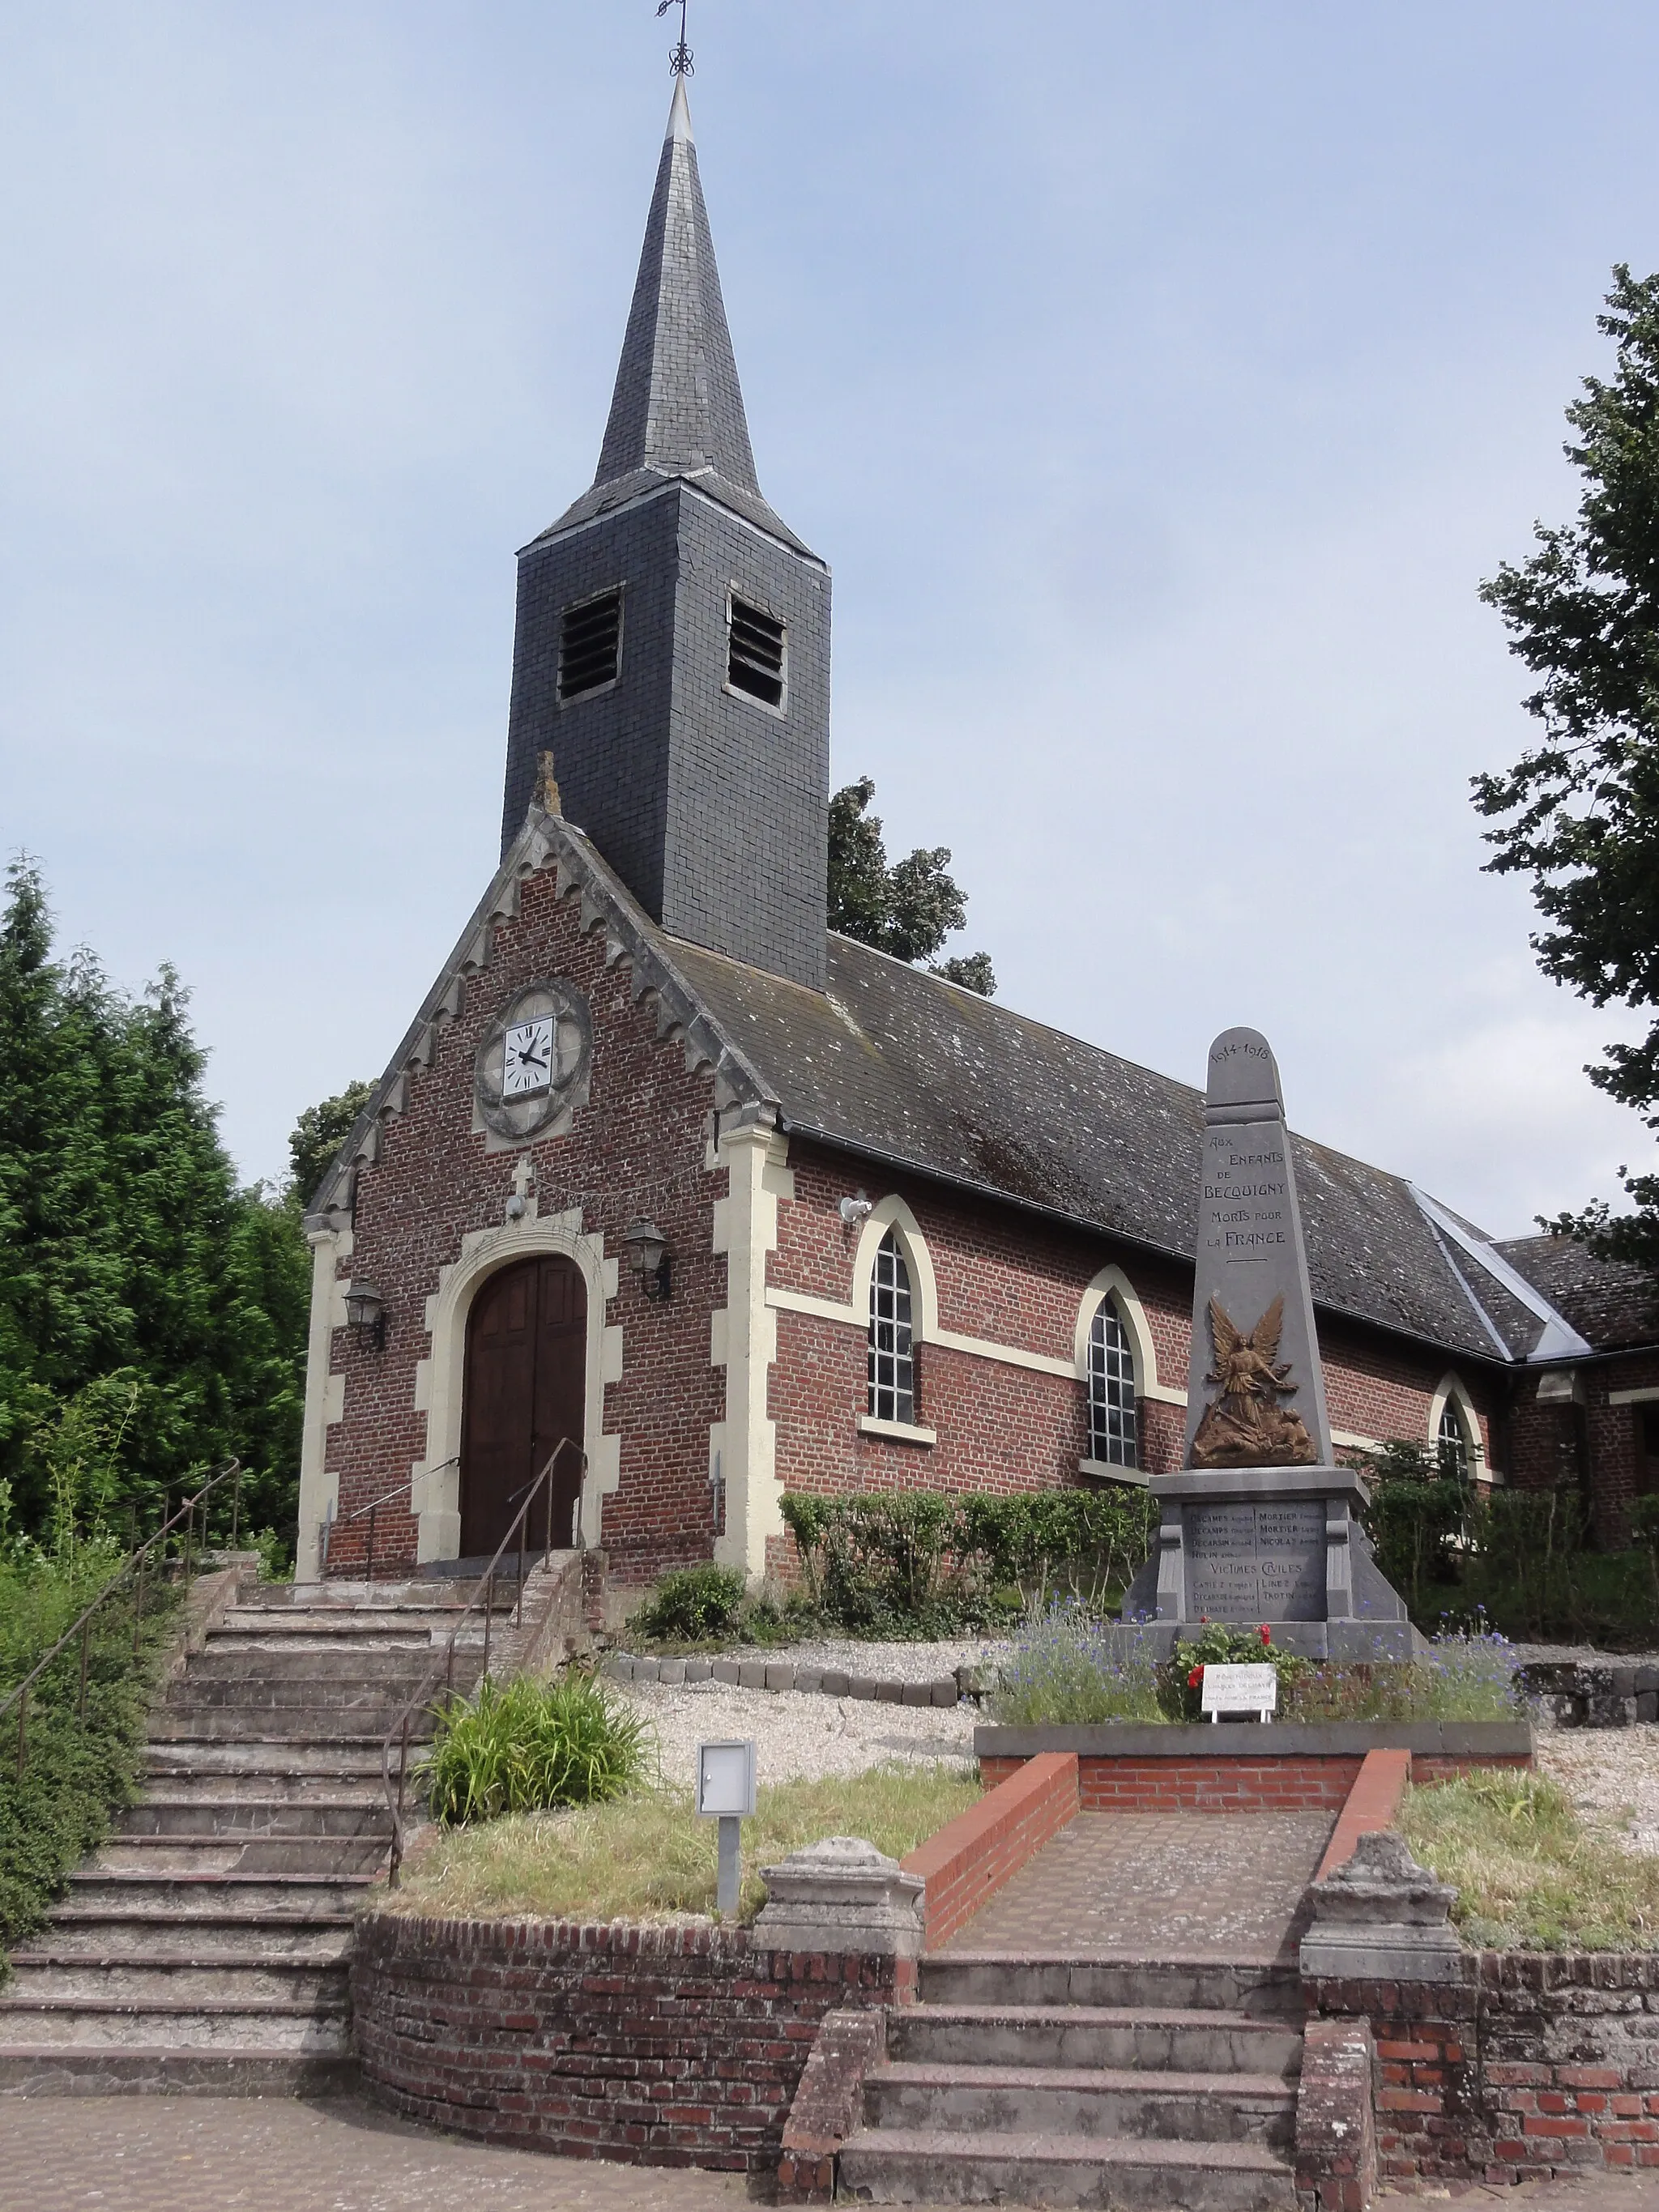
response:
{"label": "cream stone arched surround framing the church's wooden door", "polygon": [[604,1237],[584,1234],[582,1212],[526,1217],[495,1230],[462,1237],[460,1259],[438,1272],[438,1292],[427,1298],[431,1352],[416,1367],[416,1409],[427,1416],[427,1451],[411,1473],[411,1506],[418,1524],[418,1557],[460,1557],[460,1449],[467,1398],[467,1323],[476,1298],[493,1274],[540,1254],[571,1259],[586,1294],[584,1347],[584,1451],[588,1473],[582,1486],[582,1540],[602,1540],[604,1498],[622,1473],[622,1438],[604,1431],[606,1383],[622,1378],[622,1329],[606,1327],[606,1303],[617,1294],[617,1261],[606,1259]]}

